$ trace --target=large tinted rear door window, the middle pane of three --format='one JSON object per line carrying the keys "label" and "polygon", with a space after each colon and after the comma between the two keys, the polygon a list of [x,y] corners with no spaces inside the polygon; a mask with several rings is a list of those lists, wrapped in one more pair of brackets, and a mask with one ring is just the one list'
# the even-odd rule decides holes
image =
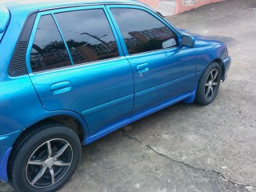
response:
{"label": "large tinted rear door window, the middle pane of three", "polygon": [[74,64],[118,57],[118,47],[102,9],[55,14]]}

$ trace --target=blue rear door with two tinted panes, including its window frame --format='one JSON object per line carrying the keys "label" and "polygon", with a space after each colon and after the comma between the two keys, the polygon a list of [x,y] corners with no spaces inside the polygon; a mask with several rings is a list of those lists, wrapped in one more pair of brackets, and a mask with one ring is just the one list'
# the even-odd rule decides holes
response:
{"label": "blue rear door with two tinted panes, including its window frame", "polygon": [[77,112],[90,135],[127,118],[134,106],[130,63],[105,9],[39,13],[26,56],[30,80],[45,109]]}

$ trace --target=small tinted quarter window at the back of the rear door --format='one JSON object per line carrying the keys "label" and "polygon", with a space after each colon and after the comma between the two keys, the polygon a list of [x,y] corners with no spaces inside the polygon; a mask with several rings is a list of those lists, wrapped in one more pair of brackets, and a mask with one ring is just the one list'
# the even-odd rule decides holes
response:
{"label": "small tinted quarter window at the back of the rear door", "polygon": [[40,18],[30,53],[32,71],[70,66],[70,58],[51,15]]}

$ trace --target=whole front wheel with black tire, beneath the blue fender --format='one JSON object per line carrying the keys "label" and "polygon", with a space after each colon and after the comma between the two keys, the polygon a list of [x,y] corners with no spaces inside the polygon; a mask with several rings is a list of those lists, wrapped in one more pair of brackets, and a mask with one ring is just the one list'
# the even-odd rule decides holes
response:
{"label": "whole front wheel with black tire, beneath the blue fender", "polygon": [[[216,77],[215,77],[216,75]],[[194,102],[206,106],[214,101],[218,94],[218,88],[221,83],[222,69],[218,62],[212,62],[207,66],[198,82],[198,88]]]}

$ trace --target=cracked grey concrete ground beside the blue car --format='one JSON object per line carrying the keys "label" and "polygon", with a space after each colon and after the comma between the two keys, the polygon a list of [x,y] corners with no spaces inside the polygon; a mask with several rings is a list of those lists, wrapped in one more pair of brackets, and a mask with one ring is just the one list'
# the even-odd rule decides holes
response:
{"label": "cracked grey concrete ground beside the blue car", "polygon": [[[83,147],[62,192],[256,191],[256,1],[171,16],[226,42],[232,66],[209,106],[178,103]],[[0,183],[0,191],[12,191]]]}

